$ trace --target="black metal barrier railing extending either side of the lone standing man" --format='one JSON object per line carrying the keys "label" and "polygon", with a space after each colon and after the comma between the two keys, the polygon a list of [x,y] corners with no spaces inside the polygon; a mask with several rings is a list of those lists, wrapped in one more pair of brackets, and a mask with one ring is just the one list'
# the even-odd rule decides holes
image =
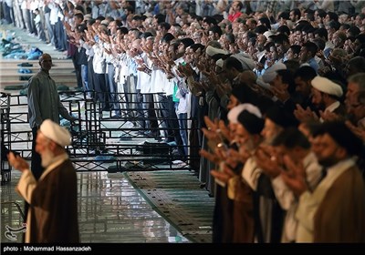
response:
{"label": "black metal barrier railing extending either side of the lone standing man", "polygon": [[[173,115],[167,114],[166,109],[155,107],[159,106],[156,103],[152,105],[151,102],[141,100],[129,101],[130,98],[138,98],[137,93],[114,94],[112,98],[117,98],[118,101],[109,101],[114,109],[105,111],[105,104],[93,99],[97,98],[94,91],[59,92],[62,104],[79,119],[75,123],[61,119],[61,125],[67,127],[72,134],[72,145],[68,147],[68,152],[78,171],[191,169],[189,162],[193,158],[196,160],[199,155],[183,155],[182,151],[188,149],[181,140],[169,144],[161,142],[166,138],[174,139],[181,130],[179,126],[176,127],[177,119]],[[163,95],[151,95],[166,99]],[[6,138],[12,149],[30,159],[32,133],[28,125],[26,96],[11,97],[8,118],[12,128]],[[149,108],[141,107],[149,103]],[[112,113],[118,111],[118,107],[120,115],[114,116]],[[156,114],[149,116],[149,112]],[[150,128],[151,132],[146,132],[146,128],[142,127],[146,120],[154,125]],[[191,121],[186,118],[182,120]],[[172,122],[175,126],[171,128]],[[186,132],[192,130],[189,128]]]}

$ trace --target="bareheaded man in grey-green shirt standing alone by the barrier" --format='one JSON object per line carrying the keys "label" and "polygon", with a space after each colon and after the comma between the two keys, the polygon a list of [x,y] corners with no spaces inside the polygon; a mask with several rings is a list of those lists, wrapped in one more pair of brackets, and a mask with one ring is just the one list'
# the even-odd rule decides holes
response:
{"label": "bareheaded man in grey-green shirt standing alone by the barrier", "polygon": [[32,128],[32,163],[31,171],[35,179],[39,179],[43,173],[40,155],[36,153],[36,132],[43,120],[49,118],[59,124],[59,115],[75,121],[75,117],[68,114],[68,110],[62,105],[57,92],[56,82],[49,76],[52,67],[52,57],[43,54],[39,57],[39,72],[29,80],[28,84],[28,114],[29,125]]}

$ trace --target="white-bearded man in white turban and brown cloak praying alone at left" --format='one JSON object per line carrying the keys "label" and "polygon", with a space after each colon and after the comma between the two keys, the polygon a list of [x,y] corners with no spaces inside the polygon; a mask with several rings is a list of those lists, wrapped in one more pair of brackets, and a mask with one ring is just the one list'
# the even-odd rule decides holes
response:
{"label": "white-bearded man in white turban and brown cloak praying alone at left", "polygon": [[66,153],[71,136],[66,128],[46,119],[36,136],[36,152],[45,171],[35,179],[24,158],[12,152],[8,159],[22,176],[17,192],[29,203],[26,242],[75,243],[78,237],[77,178]]}

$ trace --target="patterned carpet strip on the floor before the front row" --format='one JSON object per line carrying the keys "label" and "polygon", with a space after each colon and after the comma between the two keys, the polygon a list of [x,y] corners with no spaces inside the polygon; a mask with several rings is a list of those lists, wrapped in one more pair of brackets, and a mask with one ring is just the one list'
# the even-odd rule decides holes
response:
{"label": "patterned carpet strip on the floor before the front row", "polygon": [[153,209],[188,240],[212,242],[214,198],[188,170],[124,172]]}

